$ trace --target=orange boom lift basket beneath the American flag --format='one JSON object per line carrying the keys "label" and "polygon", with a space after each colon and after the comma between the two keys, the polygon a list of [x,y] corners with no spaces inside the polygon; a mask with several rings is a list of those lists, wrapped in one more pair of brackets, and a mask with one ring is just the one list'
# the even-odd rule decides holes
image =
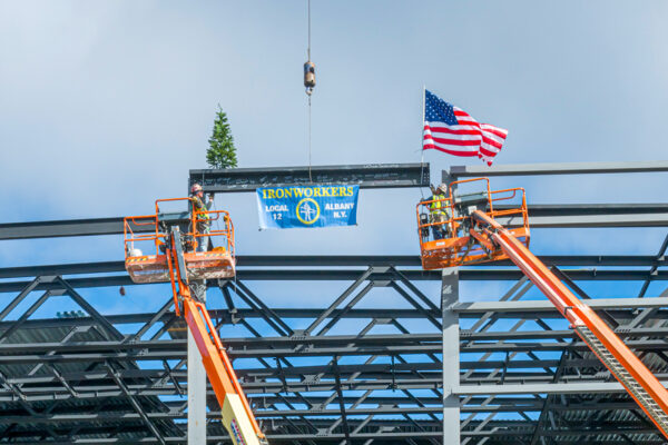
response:
{"label": "orange boom lift basket beneath the American flag", "polygon": [[[483,181],[482,191],[453,194],[458,185]],[[523,188],[490,190],[488,178],[464,179],[450,184],[450,194],[444,199],[424,200],[418,204],[418,236],[422,267],[426,270],[465,266],[507,259],[499,246],[480,236],[480,227],[471,214],[481,210],[492,218],[515,217],[517,227],[509,229],[520,243],[529,247],[529,215]],[[505,202],[503,202],[505,201]],[[499,204],[508,204],[499,208]],[[442,220],[434,214],[445,214]],[[425,215],[432,217],[425,218]],[[429,233],[434,234],[430,240]]]}

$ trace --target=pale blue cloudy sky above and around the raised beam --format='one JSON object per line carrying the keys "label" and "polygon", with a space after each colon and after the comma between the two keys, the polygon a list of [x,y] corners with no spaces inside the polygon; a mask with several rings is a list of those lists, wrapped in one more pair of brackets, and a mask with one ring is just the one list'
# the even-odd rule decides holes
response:
{"label": "pale blue cloudy sky above and around the raised beam", "polygon": [[[423,86],[509,129],[495,165],[667,159],[667,14],[664,1],[313,0],[313,165],[420,161]],[[306,165],[306,19],[292,0],[0,0],[0,222],[144,215],[184,196],[218,105],[239,167]],[[434,182],[480,164],[424,160]],[[666,174],[492,182],[525,187],[530,204],[661,202],[666,186]],[[322,230],[258,231],[253,194],[216,208],[242,255],[416,255],[419,198],[363,190],[357,227]],[[533,243],[651,255],[666,230],[613,234],[536,230]],[[0,267],[121,258],[117,237],[0,247]]]}

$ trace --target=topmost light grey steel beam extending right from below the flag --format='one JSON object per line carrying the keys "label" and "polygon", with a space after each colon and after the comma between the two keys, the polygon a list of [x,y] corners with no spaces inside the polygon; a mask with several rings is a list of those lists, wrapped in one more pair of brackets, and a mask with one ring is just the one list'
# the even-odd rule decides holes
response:
{"label": "topmost light grey steel beam extending right from below the flag", "polygon": [[636,174],[668,171],[668,160],[633,162],[556,162],[556,164],[511,164],[495,167],[452,166],[453,178],[474,178],[492,176],[534,176],[534,175],[584,175],[584,174]]}

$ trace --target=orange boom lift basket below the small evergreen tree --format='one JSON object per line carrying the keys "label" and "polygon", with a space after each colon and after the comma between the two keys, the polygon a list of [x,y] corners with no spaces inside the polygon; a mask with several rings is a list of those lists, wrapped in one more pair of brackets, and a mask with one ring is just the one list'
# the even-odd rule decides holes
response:
{"label": "orange boom lift basket below the small evergreen tree", "polygon": [[[160,202],[189,201],[189,198],[158,199],[155,215],[129,216],[124,218],[126,269],[135,283],[169,281],[169,265],[165,255],[169,240],[169,228],[178,226],[184,239],[184,260],[188,279],[232,278],[236,274],[234,255],[234,226],[225,210],[193,212],[160,212]],[[222,226],[209,233],[204,227]],[[137,228],[149,226],[149,233],[136,233]],[[147,228],[147,227],[144,227]],[[197,246],[206,244],[210,237],[216,246],[209,251],[197,251]],[[145,255],[139,247],[147,248]],[[205,246],[207,247],[207,246]],[[155,251],[155,254],[153,254]]]}

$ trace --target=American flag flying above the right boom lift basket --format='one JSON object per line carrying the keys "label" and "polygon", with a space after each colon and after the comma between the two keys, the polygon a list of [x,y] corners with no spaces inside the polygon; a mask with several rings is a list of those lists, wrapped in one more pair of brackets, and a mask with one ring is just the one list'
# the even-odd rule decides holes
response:
{"label": "American flag flying above the right boom lift basket", "polygon": [[478,123],[469,113],[424,90],[422,149],[433,148],[454,156],[478,156],[488,166],[501,151],[508,130]]}

